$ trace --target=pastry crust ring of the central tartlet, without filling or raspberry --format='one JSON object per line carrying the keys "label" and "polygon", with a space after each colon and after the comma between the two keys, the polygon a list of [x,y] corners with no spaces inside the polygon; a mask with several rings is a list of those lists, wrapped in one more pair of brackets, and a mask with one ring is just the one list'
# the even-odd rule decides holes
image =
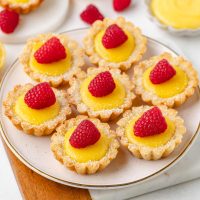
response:
{"label": "pastry crust ring of the central tartlet, without filling or raspberry", "polygon": [[[111,109],[92,109],[86,105],[81,96],[81,86],[88,77],[95,77],[101,72],[108,71],[112,74],[114,80],[118,80],[125,91],[124,101],[120,106]],[[118,117],[124,110],[127,110],[132,106],[132,101],[135,98],[133,93],[134,85],[129,80],[128,75],[122,73],[119,69],[109,69],[109,68],[88,68],[87,74],[82,72],[78,75],[76,79],[70,82],[70,88],[68,89],[70,102],[76,106],[77,110],[81,114],[87,114],[89,117],[99,118],[106,122],[113,120]],[[115,91],[115,90],[114,90]],[[114,92],[113,91],[113,92]],[[111,93],[112,95],[112,93]],[[100,97],[101,98],[101,97]],[[98,97],[97,97],[98,99]],[[108,103],[116,101],[116,99],[110,99]]]}

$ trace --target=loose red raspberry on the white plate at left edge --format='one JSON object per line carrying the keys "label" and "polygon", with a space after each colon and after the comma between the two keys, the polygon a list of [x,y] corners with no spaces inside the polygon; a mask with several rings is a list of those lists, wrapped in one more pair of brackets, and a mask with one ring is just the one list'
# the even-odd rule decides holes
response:
{"label": "loose red raspberry on the white plate at left edge", "polygon": [[0,27],[4,33],[13,33],[19,23],[19,14],[11,10],[0,12]]}

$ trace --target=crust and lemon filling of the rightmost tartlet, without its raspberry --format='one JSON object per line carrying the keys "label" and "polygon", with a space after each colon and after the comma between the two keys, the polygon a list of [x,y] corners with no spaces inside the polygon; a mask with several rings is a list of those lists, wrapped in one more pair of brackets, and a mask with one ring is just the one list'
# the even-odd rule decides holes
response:
{"label": "crust and lemon filling of the rightmost tartlet, without its raspberry", "polygon": [[[173,67],[175,75],[163,83],[154,84],[150,80],[150,74],[163,59]],[[183,104],[194,94],[198,75],[192,64],[184,58],[163,53],[135,66],[133,82],[136,94],[141,95],[144,102],[173,107]]]}

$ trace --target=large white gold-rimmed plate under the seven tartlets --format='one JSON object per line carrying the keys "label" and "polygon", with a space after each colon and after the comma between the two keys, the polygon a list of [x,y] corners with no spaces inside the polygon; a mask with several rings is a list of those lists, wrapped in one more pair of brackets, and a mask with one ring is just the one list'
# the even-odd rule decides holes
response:
{"label": "large white gold-rimmed plate under the seven tartlets", "polygon": [[[86,31],[85,29],[79,29],[70,31],[67,34],[81,41]],[[176,54],[167,46],[148,38],[148,51],[145,54],[145,58],[164,51]],[[0,91],[1,105],[7,93],[16,84],[27,82],[32,81],[23,72],[22,66],[17,60],[4,76]],[[24,164],[48,179],[82,188],[109,189],[125,187],[141,183],[164,172],[164,170],[183,157],[198,133],[199,99],[199,89],[197,89],[195,95],[178,109],[180,111],[179,114],[185,119],[188,131],[181,145],[168,158],[159,161],[140,160],[134,158],[127,150],[121,148],[117,158],[105,170],[94,175],[78,175],[66,169],[54,158],[50,150],[50,137],[29,136],[17,130],[3,114],[4,109],[2,106],[0,108],[1,133],[7,145]]]}

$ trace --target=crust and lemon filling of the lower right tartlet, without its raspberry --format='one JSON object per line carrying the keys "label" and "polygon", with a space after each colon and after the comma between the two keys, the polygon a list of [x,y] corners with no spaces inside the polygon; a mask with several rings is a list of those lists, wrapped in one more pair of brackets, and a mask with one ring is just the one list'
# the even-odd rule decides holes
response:
{"label": "crust and lemon filling of the lower right tartlet, without its raspberry", "polygon": [[166,106],[158,106],[166,120],[167,128],[162,133],[152,134],[152,136],[137,136],[134,125],[145,112],[152,108],[150,106],[133,107],[132,110],[126,111],[122,119],[117,122],[116,132],[122,145],[128,148],[135,157],[145,160],[158,160],[167,157],[181,143],[186,132],[184,121],[177,116],[176,110]]}

